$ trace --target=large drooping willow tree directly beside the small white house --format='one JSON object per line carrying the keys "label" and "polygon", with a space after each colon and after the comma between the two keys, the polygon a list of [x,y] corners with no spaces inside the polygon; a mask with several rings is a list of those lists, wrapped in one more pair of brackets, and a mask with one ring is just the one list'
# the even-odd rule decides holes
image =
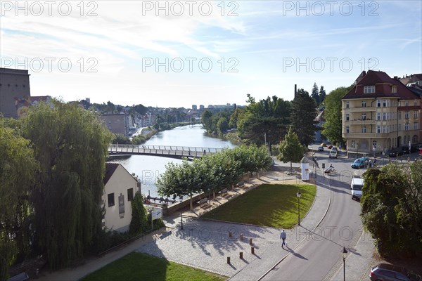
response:
{"label": "large drooping willow tree directly beside the small white house", "polygon": [[101,230],[101,196],[112,136],[77,104],[31,107],[23,133],[40,163],[32,188],[37,246],[51,268],[82,256]]}

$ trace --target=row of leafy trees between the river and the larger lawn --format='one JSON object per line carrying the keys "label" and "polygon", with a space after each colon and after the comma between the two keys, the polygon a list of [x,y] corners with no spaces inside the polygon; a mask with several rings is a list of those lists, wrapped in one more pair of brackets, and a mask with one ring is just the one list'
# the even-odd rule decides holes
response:
{"label": "row of leafy trees between the river and the larger lawn", "polygon": [[264,146],[241,145],[233,149],[224,149],[213,155],[205,155],[193,162],[181,164],[170,162],[166,171],[157,179],[158,194],[162,196],[192,197],[202,192],[218,192],[231,188],[241,177],[251,172],[268,170],[273,160]]}

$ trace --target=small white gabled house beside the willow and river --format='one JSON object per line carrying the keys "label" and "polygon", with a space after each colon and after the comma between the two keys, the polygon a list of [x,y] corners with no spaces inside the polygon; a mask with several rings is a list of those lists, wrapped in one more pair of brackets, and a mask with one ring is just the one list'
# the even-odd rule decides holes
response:
{"label": "small white gabled house beside the willow and river", "polygon": [[141,192],[141,183],[124,169],[121,164],[106,163],[104,176],[103,229],[117,230],[121,233],[129,230],[132,219],[132,199],[135,192]]}

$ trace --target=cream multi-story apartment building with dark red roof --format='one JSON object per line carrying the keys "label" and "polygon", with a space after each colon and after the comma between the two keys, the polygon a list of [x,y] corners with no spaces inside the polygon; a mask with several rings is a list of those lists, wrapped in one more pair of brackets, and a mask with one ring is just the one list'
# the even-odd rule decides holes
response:
{"label": "cream multi-story apartment building with dark red roof", "polygon": [[421,96],[397,77],[369,70],[343,97],[343,138],[347,154],[387,152],[421,141]]}

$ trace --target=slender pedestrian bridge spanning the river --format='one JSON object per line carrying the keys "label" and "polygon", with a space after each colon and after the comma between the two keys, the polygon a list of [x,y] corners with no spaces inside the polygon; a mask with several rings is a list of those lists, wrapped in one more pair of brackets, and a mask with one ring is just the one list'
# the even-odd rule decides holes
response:
{"label": "slender pedestrian bridge spanning the river", "polygon": [[108,146],[109,155],[151,155],[170,158],[192,160],[195,157],[214,154],[222,151],[223,148],[196,148],[186,146],[172,145],[119,145],[112,144]]}

